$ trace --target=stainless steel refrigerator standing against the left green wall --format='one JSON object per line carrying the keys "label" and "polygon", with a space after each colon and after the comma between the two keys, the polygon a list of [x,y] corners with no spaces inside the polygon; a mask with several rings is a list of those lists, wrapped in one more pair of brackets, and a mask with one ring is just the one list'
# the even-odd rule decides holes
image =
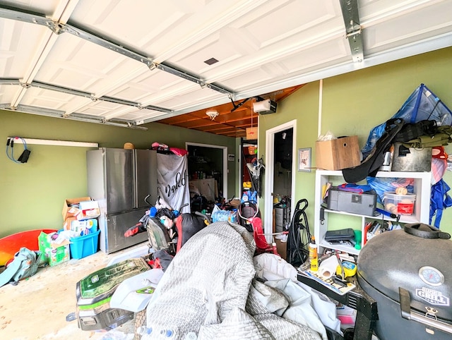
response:
{"label": "stainless steel refrigerator standing against the left green wall", "polygon": [[99,202],[100,250],[109,254],[144,242],[148,233],[124,237],[157,200],[157,152],[101,147],[86,154],[88,195]]}

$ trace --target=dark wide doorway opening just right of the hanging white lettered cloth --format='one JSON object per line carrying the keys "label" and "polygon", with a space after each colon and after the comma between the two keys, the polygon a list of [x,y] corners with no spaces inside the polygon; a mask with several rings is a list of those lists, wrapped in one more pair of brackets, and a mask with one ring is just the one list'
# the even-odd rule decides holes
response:
{"label": "dark wide doorway opening just right of the hanging white lettered cloth", "polygon": [[185,143],[189,171],[191,212],[210,213],[227,197],[227,147]]}

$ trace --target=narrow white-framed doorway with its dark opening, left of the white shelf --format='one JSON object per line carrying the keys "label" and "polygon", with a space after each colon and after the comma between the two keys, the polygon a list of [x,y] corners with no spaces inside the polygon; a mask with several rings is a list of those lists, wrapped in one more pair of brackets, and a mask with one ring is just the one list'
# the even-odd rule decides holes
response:
{"label": "narrow white-framed doorway with its dark opening, left of the white shelf", "polygon": [[[295,141],[297,140],[297,121],[289,121],[266,131],[266,186],[264,194],[264,232],[274,233],[275,227],[290,223],[290,212],[294,210],[292,195],[295,194]],[[288,199],[288,200],[287,200]],[[285,201],[284,201],[285,200]],[[276,206],[276,208],[275,208]],[[279,210],[283,207],[282,210]],[[278,210],[278,215],[277,214]],[[278,221],[277,221],[278,217]],[[277,224],[278,222],[278,224]],[[272,237],[266,236],[271,242]]]}

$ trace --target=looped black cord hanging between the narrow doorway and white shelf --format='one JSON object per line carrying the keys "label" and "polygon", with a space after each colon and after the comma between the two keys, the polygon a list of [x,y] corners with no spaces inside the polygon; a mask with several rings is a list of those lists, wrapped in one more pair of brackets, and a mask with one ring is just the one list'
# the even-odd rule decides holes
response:
{"label": "looped black cord hanging between the narrow doorway and white shelf", "polygon": [[[300,208],[300,205],[304,206]],[[306,215],[308,201],[299,200],[295,207],[295,212],[289,226],[289,235],[287,236],[287,262],[294,267],[302,265],[309,257],[309,241],[311,233]]]}

